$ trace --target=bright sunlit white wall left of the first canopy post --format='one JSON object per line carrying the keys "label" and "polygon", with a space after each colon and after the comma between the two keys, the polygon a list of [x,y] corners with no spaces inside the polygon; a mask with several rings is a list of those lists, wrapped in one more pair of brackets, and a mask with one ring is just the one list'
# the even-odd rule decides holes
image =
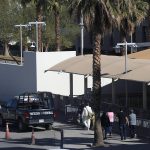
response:
{"label": "bright sunlit white wall left of the first canopy post", "polygon": [[69,95],[70,81],[68,73],[58,73],[45,70],[53,65],[76,56],[75,51],[70,52],[37,52],[37,91],[50,91],[54,94]]}

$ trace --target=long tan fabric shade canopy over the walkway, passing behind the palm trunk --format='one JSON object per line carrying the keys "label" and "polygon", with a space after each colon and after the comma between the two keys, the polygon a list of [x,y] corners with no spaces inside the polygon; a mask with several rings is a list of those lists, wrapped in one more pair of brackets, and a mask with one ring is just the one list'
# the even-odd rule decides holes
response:
{"label": "long tan fabric shade canopy over the walkway, passing behind the palm trunk", "polygon": [[[92,75],[93,56],[76,56],[62,61],[46,71],[66,72],[80,75]],[[119,78],[140,82],[150,81],[150,60],[131,59],[126,62],[127,73],[125,73],[124,56],[101,55],[102,77]]]}

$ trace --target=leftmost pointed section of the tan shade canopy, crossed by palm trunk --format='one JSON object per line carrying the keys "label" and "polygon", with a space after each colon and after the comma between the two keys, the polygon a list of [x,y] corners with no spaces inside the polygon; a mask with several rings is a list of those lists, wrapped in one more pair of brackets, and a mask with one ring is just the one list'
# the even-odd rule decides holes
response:
{"label": "leftmost pointed section of the tan shade canopy, crossed by palm trunk", "polygon": [[[102,55],[102,67],[110,65],[114,62],[119,61],[121,58],[117,56],[106,56]],[[108,59],[109,58],[109,59]],[[92,75],[92,63],[93,56],[90,55],[80,55],[76,57],[69,58],[65,61],[62,61],[53,67],[49,68],[46,71],[58,71],[58,72],[67,72],[80,75]]]}

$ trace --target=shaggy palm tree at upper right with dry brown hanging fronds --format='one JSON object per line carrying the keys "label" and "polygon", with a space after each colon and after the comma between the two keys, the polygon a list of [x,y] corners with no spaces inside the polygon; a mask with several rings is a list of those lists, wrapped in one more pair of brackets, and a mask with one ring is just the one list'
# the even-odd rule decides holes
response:
{"label": "shaggy palm tree at upper right with dry brown hanging fronds", "polygon": [[[132,35],[135,26],[140,24],[147,15],[148,4],[144,0],[119,0],[118,12],[120,20],[121,42],[126,42],[127,35]],[[118,14],[117,14],[118,16]],[[122,54],[125,50],[122,51]]]}

